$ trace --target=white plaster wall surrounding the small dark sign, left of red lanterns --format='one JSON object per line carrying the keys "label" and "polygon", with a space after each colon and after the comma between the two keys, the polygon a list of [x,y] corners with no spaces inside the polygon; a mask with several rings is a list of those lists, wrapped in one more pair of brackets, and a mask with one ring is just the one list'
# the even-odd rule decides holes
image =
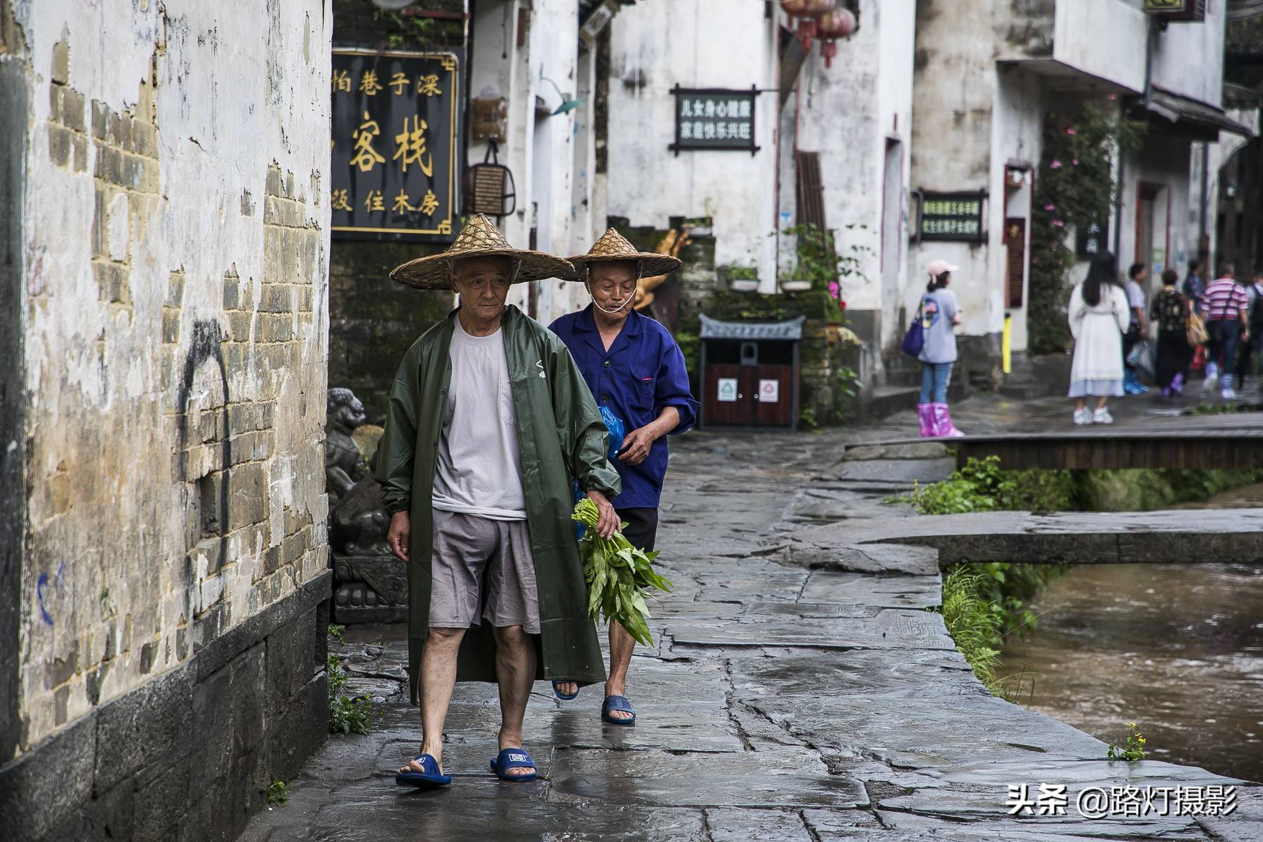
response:
{"label": "white plaster wall surrounding the small dark sign, left of red lanterns", "polygon": [[[775,93],[760,93],[762,149],[673,154],[671,88],[775,87],[774,23],[762,3],[676,0],[624,8],[611,23],[608,207],[632,225],[711,216],[715,261],[759,268],[775,292]],[[788,189],[792,193],[792,183]]]}

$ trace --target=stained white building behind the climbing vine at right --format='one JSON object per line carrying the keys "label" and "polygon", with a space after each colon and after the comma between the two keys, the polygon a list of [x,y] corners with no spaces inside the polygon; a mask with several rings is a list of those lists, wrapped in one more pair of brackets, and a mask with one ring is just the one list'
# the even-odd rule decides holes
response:
{"label": "stained white building behind the climbing vine at right", "polygon": [[1104,245],[1120,269],[1137,261],[1151,278],[1167,266],[1182,275],[1209,246],[1190,154],[1235,130],[1221,107],[1224,8],[1207,4],[1205,21],[1167,27],[1142,9],[1142,0],[918,3],[912,187],[984,194],[984,225],[975,242],[914,242],[903,303],[916,307],[931,260],[959,264],[962,333],[978,337],[964,345],[971,364],[997,360],[1005,314],[1014,353],[1028,347],[1032,183],[1050,111],[1113,93],[1147,116],[1143,146],[1118,163],[1120,207],[1108,220]]}

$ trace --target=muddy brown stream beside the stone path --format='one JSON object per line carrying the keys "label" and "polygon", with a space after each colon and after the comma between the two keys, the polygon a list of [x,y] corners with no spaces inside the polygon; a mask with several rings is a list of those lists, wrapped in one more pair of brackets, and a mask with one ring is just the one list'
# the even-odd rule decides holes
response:
{"label": "muddy brown stream beside the stone path", "polygon": [[[1200,505],[1263,506],[1263,485]],[[1004,649],[1015,702],[1105,742],[1134,720],[1151,759],[1263,781],[1263,566],[1076,567],[1032,607]]]}

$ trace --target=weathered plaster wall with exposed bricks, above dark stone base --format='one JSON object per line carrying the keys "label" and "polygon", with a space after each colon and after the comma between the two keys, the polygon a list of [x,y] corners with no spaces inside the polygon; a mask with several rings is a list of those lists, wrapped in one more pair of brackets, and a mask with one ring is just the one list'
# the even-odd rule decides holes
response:
{"label": "weathered plaster wall with exposed bricks, above dark stone base", "polygon": [[32,91],[23,749],[327,564],[332,13],[231,6],[14,4]]}

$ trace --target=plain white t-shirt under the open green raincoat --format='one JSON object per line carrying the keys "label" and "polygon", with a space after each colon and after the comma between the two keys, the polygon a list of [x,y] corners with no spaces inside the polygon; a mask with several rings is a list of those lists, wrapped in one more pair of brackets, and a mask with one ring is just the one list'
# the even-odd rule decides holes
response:
{"label": "plain white t-shirt under the open green raincoat", "polygon": [[448,356],[452,382],[438,439],[433,506],[490,520],[525,520],[504,331],[470,336],[457,318]]}

